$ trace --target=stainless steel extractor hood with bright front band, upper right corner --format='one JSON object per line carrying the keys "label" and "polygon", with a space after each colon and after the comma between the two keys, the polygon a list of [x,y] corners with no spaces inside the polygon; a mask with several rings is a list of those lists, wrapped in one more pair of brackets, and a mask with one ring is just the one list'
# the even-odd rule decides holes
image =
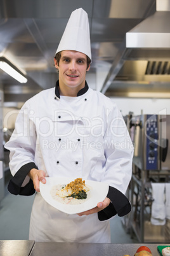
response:
{"label": "stainless steel extractor hood with bright front band, upper right corner", "polygon": [[154,15],[126,33],[126,48],[170,48],[170,0],[157,0]]}

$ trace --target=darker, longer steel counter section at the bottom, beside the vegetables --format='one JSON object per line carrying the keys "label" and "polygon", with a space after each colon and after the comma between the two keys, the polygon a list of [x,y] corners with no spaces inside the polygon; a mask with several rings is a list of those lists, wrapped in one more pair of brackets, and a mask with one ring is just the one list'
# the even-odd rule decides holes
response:
{"label": "darker, longer steel counter section at the bottom, beside the vegetables", "polygon": [[[133,256],[140,246],[141,244],[36,243],[30,256]],[[150,248],[153,256],[159,255],[158,244],[145,246]]]}

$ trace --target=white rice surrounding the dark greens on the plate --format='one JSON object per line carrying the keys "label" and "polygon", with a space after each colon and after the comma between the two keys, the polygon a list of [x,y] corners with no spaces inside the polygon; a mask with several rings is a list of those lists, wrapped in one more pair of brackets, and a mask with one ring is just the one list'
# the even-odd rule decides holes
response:
{"label": "white rice surrounding the dark greens on the plate", "polygon": [[53,199],[55,199],[56,201],[58,201],[59,203],[62,203],[62,204],[83,204],[85,203],[86,201],[88,201],[89,197],[90,197],[90,190],[91,190],[91,187],[87,186],[89,188],[89,191],[86,192],[87,194],[87,198],[86,199],[76,199],[76,198],[73,198],[73,197],[60,197],[58,195],[56,195],[56,191],[57,190],[60,190],[62,189],[63,187],[65,187],[65,185],[63,184],[60,184],[60,185],[55,185],[51,188],[51,191],[50,191],[50,194],[51,196],[53,197]]}

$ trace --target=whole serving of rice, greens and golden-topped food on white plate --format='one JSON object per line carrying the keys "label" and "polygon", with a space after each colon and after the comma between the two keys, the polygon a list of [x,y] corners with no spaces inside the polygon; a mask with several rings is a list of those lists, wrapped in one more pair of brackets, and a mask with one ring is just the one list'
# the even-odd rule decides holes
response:
{"label": "whole serving of rice, greens and golden-topped food on white plate", "polygon": [[69,184],[56,185],[51,189],[51,196],[63,204],[82,204],[90,197],[89,187],[82,178],[77,178]]}

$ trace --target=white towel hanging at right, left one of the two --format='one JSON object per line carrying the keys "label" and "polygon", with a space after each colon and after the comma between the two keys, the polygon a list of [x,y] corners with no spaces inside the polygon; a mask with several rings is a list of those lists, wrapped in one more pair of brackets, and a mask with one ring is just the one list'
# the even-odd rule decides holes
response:
{"label": "white towel hanging at right, left one of the two", "polygon": [[152,203],[151,223],[153,225],[166,224],[166,205],[165,205],[165,183],[152,183]]}

